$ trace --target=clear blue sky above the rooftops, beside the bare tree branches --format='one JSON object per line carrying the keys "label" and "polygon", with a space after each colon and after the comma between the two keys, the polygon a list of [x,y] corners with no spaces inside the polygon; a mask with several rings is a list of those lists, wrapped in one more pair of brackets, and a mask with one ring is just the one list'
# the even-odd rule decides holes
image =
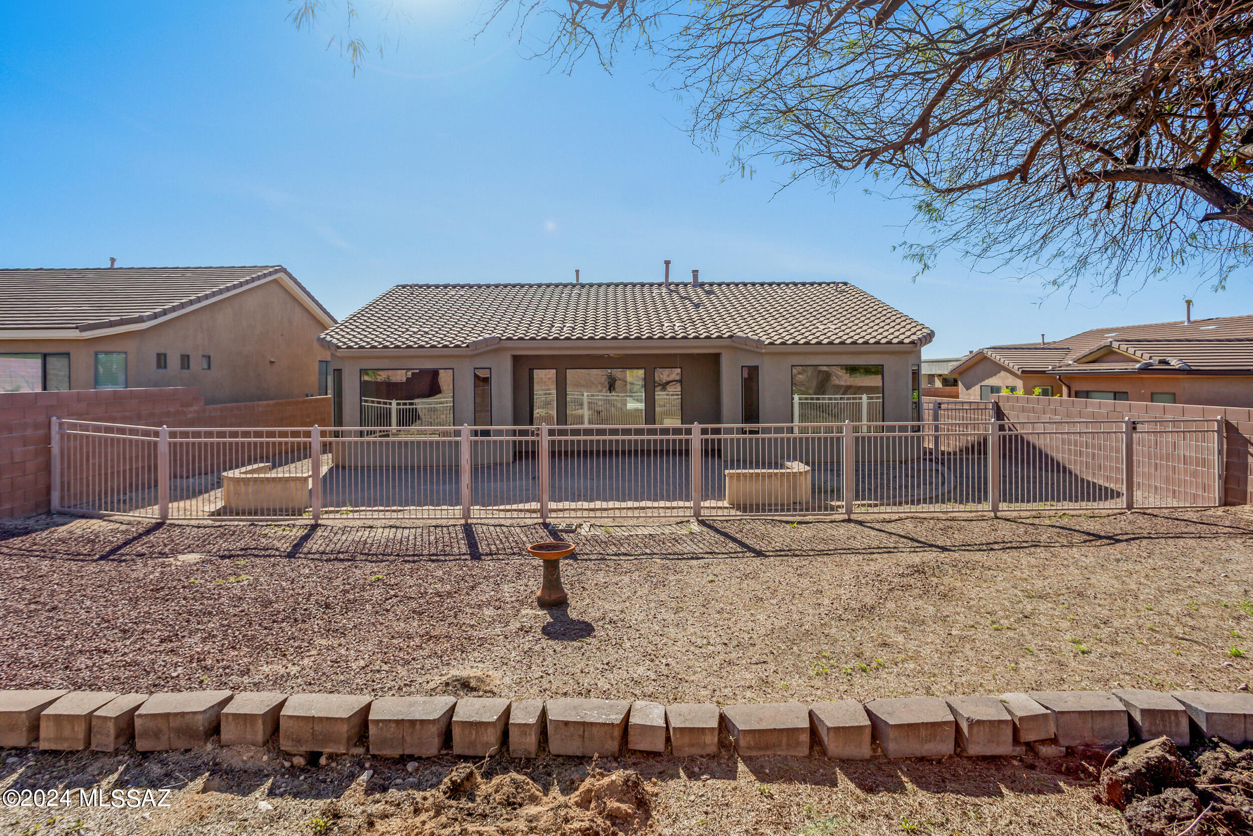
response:
{"label": "clear blue sky above the rooftops, beside the bare tree branches", "polygon": [[[1243,271],[1041,302],[1035,280],[891,251],[903,202],[776,194],[682,130],[648,64],[573,76],[476,6],[400,0],[352,75],[284,0],[11,4],[0,19],[0,266],[282,263],[337,316],[398,282],[851,281],[935,328],[925,353],[1253,312]],[[378,29],[367,19],[362,34]]]}

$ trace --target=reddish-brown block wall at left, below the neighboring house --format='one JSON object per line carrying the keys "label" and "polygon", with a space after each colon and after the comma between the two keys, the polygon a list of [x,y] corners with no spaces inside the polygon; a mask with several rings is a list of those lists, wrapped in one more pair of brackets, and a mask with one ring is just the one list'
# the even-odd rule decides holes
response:
{"label": "reddish-brown block wall at left, below the neighboring house", "polygon": [[[330,397],[205,406],[194,387],[0,394],[0,519],[49,509],[51,417],[169,427],[331,425]],[[138,450],[132,445],[129,450]],[[147,473],[139,454],[115,445],[107,473],[119,483]]]}

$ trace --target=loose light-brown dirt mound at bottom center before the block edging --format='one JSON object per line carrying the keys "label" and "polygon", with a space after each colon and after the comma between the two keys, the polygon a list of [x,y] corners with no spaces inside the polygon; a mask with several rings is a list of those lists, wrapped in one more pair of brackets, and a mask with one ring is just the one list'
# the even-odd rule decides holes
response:
{"label": "loose light-brown dirt mound at bottom center before the block edging", "polygon": [[336,832],[357,836],[628,836],[650,830],[653,790],[635,771],[593,768],[569,796],[545,795],[516,772],[484,781],[459,765],[416,797],[397,792],[357,810],[337,806]]}

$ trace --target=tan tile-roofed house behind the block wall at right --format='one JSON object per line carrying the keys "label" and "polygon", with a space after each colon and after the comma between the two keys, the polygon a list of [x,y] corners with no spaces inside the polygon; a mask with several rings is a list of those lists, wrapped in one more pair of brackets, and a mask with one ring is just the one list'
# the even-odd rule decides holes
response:
{"label": "tan tile-roofed house behind the block wall at right", "polygon": [[1253,316],[1093,328],[990,346],[955,368],[961,397],[1001,392],[1106,401],[1253,406]]}

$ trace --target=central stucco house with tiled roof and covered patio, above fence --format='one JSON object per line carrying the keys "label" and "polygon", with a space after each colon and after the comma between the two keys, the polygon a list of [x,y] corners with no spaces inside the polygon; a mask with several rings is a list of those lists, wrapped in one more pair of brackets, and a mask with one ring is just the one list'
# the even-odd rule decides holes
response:
{"label": "central stucco house with tiled roof and covered patio, above fence", "polygon": [[398,285],[322,335],[340,426],[908,421],[932,331],[845,282]]}

